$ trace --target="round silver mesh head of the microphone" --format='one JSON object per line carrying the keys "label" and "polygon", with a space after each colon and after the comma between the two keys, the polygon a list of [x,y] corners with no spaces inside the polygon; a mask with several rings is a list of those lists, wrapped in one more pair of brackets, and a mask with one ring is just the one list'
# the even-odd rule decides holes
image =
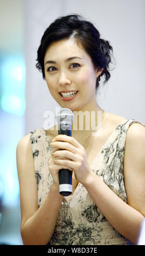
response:
{"label": "round silver mesh head of the microphone", "polygon": [[58,125],[62,123],[71,124],[73,123],[73,120],[74,114],[69,108],[61,108],[56,114],[56,121]]}

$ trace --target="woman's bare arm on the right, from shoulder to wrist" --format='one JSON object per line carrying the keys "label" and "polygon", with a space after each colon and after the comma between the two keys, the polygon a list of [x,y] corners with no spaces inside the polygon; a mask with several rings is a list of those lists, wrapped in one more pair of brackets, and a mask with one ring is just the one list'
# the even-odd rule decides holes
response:
{"label": "woman's bare arm on the right, from shoulder to wrist", "polygon": [[134,244],[145,216],[145,128],[129,127],[124,152],[124,181],[127,204],[96,175],[83,184],[109,223]]}

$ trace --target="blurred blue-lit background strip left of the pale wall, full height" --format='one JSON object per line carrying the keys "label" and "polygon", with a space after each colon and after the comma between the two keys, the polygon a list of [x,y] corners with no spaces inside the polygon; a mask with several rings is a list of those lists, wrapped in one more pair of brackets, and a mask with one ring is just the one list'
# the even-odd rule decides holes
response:
{"label": "blurred blue-lit background strip left of the pale wall, full height", "polygon": [[21,245],[16,147],[25,134],[24,6],[0,1],[0,244]]}

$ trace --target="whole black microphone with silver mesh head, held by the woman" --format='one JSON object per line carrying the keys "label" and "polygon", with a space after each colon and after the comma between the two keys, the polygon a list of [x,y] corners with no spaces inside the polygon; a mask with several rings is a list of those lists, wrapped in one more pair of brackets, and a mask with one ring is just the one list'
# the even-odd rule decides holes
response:
{"label": "whole black microphone with silver mesh head, held by the woman", "polygon": [[[71,123],[74,120],[74,114],[69,108],[61,108],[56,115],[58,124],[58,135],[71,136]],[[72,172],[69,169],[59,170],[60,194],[69,196],[72,193]]]}

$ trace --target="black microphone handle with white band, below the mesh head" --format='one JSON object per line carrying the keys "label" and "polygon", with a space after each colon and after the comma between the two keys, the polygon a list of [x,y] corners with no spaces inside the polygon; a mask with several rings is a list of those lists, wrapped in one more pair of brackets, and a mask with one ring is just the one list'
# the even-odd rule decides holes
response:
{"label": "black microphone handle with white band, below the mesh head", "polygon": [[[71,136],[71,124],[61,123],[58,127],[58,135],[67,135]],[[62,196],[69,196],[72,193],[72,172],[69,169],[59,170],[59,179],[60,179],[60,194]]]}

